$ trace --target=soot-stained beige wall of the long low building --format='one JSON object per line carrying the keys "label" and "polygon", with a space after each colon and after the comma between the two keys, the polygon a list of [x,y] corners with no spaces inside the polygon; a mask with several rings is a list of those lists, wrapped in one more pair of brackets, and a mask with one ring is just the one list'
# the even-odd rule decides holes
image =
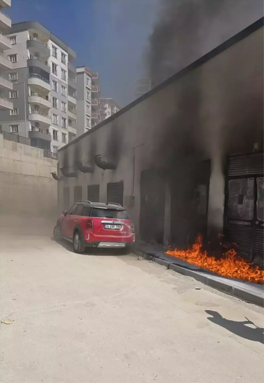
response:
{"label": "soot-stained beige wall of the long low building", "polygon": [[[95,166],[92,174],[78,172],[77,178],[59,182],[61,208],[63,187],[70,187],[73,204],[75,185],[82,185],[82,198],[87,198],[87,185],[100,184],[100,201],[106,201],[107,183],[123,180],[124,196],[131,195],[134,184],[134,206],[126,207],[138,229],[141,171],[174,167],[175,155],[178,163],[183,156],[196,155],[212,160],[208,216],[221,230],[223,157],[253,151],[254,142],[264,137],[263,68],[264,28],[260,28],[62,148],[60,168],[72,171],[76,159],[89,166],[93,155],[102,155],[103,160],[115,162],[117,169],[103,171]],[[169,191],[166,195],[170,198]],[[165,213],[169,220],[169,208]]]}

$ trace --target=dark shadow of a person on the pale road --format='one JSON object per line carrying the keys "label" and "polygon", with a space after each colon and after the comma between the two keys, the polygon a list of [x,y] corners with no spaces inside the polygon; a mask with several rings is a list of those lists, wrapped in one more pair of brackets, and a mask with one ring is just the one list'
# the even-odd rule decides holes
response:
{"label": "dark shadow of a person on the pale road", "polygon": [[[264,344],[264,328],[257,327],[253,322],[246,321],[231,321],[230,319],[223,318],[219,313],[212,310],[205,310],[205,312],[212,317],[208,317],[209,321],[224,327],[233,334],[242,338],[253,340]],[[246,318],[247,319],[247,318]],[[246,324],[253,324],[256,328],[246,326]]]}

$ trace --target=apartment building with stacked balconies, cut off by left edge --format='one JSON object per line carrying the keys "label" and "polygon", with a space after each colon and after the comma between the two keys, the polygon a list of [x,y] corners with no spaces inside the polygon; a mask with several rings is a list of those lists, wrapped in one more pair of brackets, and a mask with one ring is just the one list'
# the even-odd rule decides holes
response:
{"label": "apartment building with stacked balconies, cut off by left edge", "polygon": [[[8,38],[11,29],[11,19],[5,14],[5,8],[11,7],[11,0],[0,0],[0,113],[13,110],[13,102],[9,99],[9,92],[13,91],[7,71],[13,68],[8,57],[13,41]],[[1,124],[1,116],[0,116]]]}

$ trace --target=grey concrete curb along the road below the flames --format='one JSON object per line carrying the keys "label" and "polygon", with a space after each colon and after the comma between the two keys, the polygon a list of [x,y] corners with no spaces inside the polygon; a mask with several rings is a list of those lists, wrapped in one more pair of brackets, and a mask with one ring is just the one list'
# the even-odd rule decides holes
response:
{"label": "grey concrete curb along the road below the flames", "polygon": [[134,253],[146,260],[165,266],[167,269],[173,270],[182,275],[187,275],[188,277],[192,277],[195,280],[202,282],[204,285],[215,288],[216,290],[222,291],[225,294],[232,295],[235,298],[241,299],[248,303],[264,307],[264,294],[262,296],[260,294],[254,293],[253,291],[247,290],[246,288],[234,286],[233,284],[228,283],[228,280],[226,279],[218,280],[214,278],[213,275],[205,275],[199,271],[190,270],[188,268],[175,265],[168,262],[167,260],[161,259],[153,254],[142,252],[138,249],[134,249]]}

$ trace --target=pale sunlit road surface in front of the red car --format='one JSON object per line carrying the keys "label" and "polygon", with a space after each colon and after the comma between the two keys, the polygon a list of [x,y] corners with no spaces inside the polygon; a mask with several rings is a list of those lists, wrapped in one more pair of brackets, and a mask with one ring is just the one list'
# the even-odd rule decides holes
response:
{"label": "pale sunlit road surface in front of the red car", "polygon": [[1,235],[1,383],[264,381],[261,308],[35,234]]}

